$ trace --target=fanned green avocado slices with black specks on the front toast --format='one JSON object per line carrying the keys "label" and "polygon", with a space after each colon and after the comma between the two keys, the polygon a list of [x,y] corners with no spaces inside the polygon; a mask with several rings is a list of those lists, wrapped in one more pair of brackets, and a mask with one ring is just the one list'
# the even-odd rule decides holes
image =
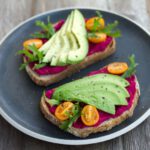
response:
{"label": "fanned green avocado slices with black specks on the front toast", "polygon": [[56,88],[52,98],[84,102],[114,114],[115,105],[127,105],[126,98],[130,95],[125,87],[128,85],[129,82],[120,76],[97,74]]}

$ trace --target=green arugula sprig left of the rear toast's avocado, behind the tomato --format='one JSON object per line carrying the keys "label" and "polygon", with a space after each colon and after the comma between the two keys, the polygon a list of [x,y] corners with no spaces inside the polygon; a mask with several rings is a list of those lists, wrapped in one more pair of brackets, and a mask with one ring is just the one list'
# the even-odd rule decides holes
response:
{"label": "green arugula sprig left of the rear toast's avocado, behind the tomato", "polygon": [[31,34],[32,37],[49,39],[52,35],[54,35],[55,29],[53,24],[50,22],[50,17],[47,19],[47,24],[40,20],[37,20],[35,24],[36,26],[41,27],[42,31]]}

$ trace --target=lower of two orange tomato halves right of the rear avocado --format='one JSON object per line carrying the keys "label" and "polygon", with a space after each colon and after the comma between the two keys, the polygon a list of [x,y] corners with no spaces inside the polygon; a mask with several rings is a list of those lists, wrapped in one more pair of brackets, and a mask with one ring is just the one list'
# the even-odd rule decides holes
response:
{"label": "lower of two orange tomato halves right of the rear avocado", "polygon": [[107,38],[107,35],[105,33],[95,33],[94,36],[88,37],[88,40],[92,43],[101,43],[104,42]]}

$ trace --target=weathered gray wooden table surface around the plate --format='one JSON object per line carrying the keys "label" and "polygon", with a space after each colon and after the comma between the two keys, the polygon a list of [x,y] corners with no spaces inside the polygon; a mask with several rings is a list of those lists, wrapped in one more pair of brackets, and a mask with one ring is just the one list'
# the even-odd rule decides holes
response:
{"label": "weathered gray wooden table surface around the plate", "polygon": [[[0,0],[0,39],[31,16],[61,7],[89,6],[116,11],[150,31],[150,0]],[[62,146],[36,140],[9,125],[0,116],[0,150],[150,150],[150,118],[114,140],[88,146]]]}

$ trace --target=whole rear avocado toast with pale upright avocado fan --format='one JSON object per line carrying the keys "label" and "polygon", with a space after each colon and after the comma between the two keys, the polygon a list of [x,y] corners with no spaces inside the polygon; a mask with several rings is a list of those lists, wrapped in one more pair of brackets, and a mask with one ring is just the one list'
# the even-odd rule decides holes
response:
{"label": "whole rear avocado toast with pale upright avocado fan", "polygon": [[36,21],[41,31],[23,43],[22,68],[38,85],[47,86],[102,60],[115,51],[120,36],[118,22],[105,25],[102,15],[84,18],[73,10],[67,19],[55,24]]}

